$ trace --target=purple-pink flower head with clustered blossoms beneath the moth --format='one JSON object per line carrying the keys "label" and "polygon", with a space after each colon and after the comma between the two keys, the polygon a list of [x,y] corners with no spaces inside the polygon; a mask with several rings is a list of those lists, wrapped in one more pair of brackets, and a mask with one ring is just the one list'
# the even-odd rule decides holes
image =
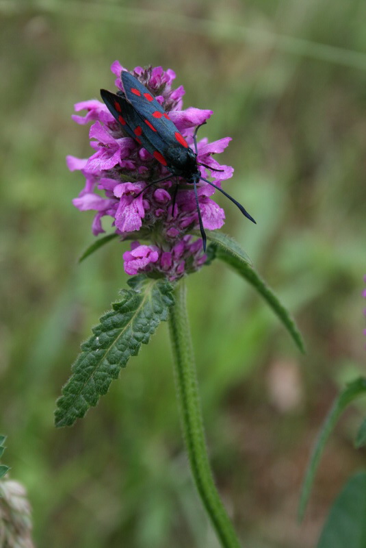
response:
{"label": "purple-pink flower head with clustered blossoms beneath the moth", "polygon": [[[126,69],[118,61],[112,63],[111,69],[116,75],[116,87],[123,91],[121,72]],[[182,110],[184,90],[182,86],[172,88],[175,73],[171,70],[137,66],[131,74],[155,97],[183,141],[194,150],[194,129],[205,123],[212,111]],[[93,234],[105,232],[101,221],[105,216],[112,217],[112,226],[121,239],[132,240],[131,250],[123,254],[129,275],[153,273],[173,281],[198,270],[206,256],[202,240],[192,236],[192,231],[199,228],[194,188],[189,184],[192,181],[175,175],[169,177],[169,164],[159,160],[159,153],[154,158],[142,147],[138,134],[131,138],[131,131],[126,132],[101,101],[77,103],[75,111],[81,110],[86,110],[86,115],[74,114],[73,119],[79,124],[93,122],[89,133],[92,155],[86,160],[68,156],[67,164],[70,171],[79,170],[86,178],[73,203],[81,211],[94,210]],[[230,140],[226,137],[209,143],[204,138],[197,143],[197,169],[205,179],[213,177],[212,182],[219,189],[222,181],[233,175],[233,168],[219,164],[213,154],[224,151]],[[164,181],[151,184],[165,177]],[[200,215],[203,227],[210,230],[222,227],[225,219],[224,210],[212,199],[214,192],[215,188],[200,180],[197,185]]]}

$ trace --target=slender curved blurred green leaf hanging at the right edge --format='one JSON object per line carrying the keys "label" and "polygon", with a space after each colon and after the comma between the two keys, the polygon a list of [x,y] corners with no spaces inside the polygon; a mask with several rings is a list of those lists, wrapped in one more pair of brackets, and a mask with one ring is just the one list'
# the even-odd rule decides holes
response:
{"label": "slender curved blurred green leaf hanging at the right edge", "polygon": [[356,399],[358,396],[365,395],[366,393],[366,378],[359,377],[353,382],[350,382],[343,392],[339,394],[335,402],[333,403],[326,420],[323,423],[322,429],[319,432],[319,436],[315,442],[313,452],[309,460],[308,467],[306,469],[304,482],[302,484],[302,490],[300,495],[300,503],[298,510],[298,519],[302,520],[306,504],[309,500],[311,488],[313,486],[315,473],[319,464],[320,457],[326,445],[332,429],[335,427],[339,416],[343,413],[345,408]]}

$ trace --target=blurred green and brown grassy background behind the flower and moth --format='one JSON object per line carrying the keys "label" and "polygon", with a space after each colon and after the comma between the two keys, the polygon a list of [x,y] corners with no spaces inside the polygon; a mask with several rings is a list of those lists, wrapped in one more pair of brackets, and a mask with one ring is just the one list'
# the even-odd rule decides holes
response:
{"label": "blurred green and brown grassy background behind the flower and moth", "polygon": [[[110,64],[174,69],[201,129],[232,136],[225,232],[291,310],[302,357],[222,264],[187,280],[211,462],[243,544],[313,547],[345,477],[365,464],[353,408],[326,449],[304,523],[306,460],[343,383],[363,373],[364,0],[0,2],[0,432],[27,486],[38,548],[218,547],[183,451],[168,330],[86,419],[53,427],[79,345],[126,286],[125,245],[80,266],[92,213],[71,203],[91,153],[73,104],[114,88]],[[106,225],[107,227],[107,225]]]}

